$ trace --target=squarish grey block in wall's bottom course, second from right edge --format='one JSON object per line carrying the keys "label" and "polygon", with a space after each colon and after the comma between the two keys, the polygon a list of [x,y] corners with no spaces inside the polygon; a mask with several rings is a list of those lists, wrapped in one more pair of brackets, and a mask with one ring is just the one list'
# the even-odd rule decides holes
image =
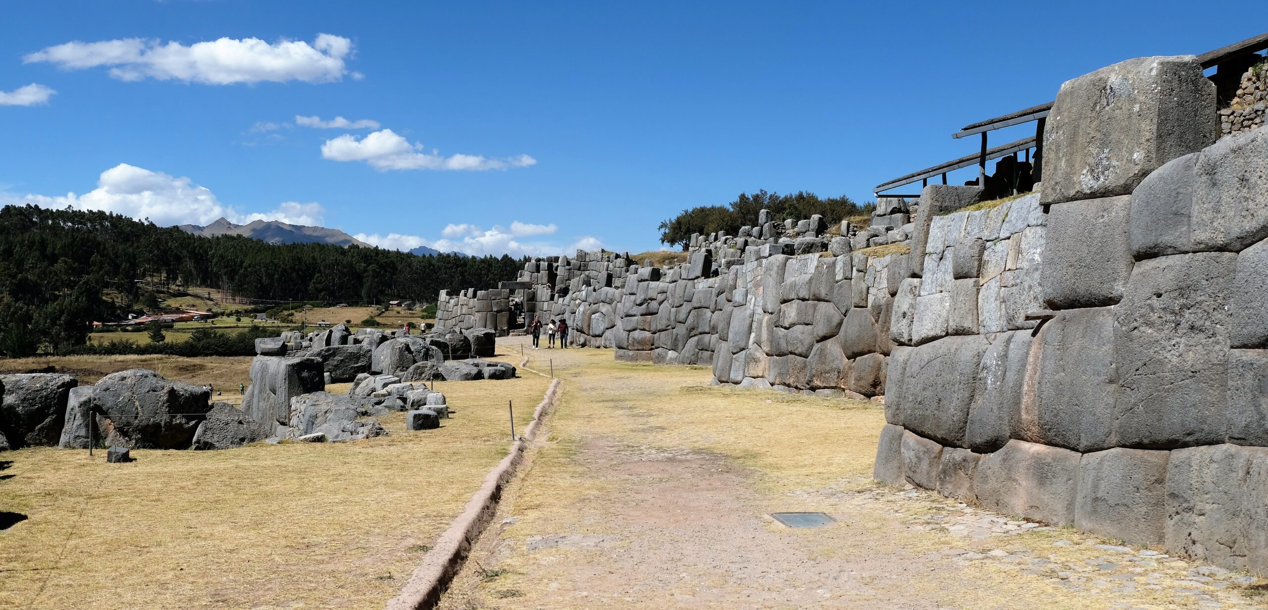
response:
{"label": "squarish grey block in wall's bottom course, second from right edge", "polygon": [[1161,544],[1169,454],[1115,448],[1083,455],[1074,526],[1131,545]]}

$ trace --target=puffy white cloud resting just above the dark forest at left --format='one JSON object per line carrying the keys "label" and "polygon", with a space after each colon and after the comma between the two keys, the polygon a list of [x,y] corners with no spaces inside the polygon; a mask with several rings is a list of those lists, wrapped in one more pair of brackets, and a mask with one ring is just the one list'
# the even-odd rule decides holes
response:
{"label": "puffy white cloud resting just above the dark forest at left", "polygon": [[142,219],[155,224],[210,224],[223,217],[242,224],[257,219],[281,221],[292,224],[321,224],[326,213],[317,203],[287,202],[271,212],[238,213],[224,205],[205,186],[188,178],[174,178],[134,165],[119,164],[101,172],[96,188],[82,194],[58,197],[25,195],[19,203],[42,208],[99,209]]}

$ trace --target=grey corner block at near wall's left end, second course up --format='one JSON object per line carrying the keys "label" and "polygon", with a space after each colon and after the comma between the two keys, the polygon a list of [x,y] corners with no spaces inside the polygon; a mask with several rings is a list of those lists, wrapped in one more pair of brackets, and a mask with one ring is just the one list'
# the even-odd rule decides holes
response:
{"label": "grey corner block at near wall's left end, second course up", "polygon": [[[969,407],[975,402],[987,347],[985,337],[967,335],[912,349],[896,405],[903,427],[943,445],[965,446]],[[891,399],[886,397],[886,403]]]}

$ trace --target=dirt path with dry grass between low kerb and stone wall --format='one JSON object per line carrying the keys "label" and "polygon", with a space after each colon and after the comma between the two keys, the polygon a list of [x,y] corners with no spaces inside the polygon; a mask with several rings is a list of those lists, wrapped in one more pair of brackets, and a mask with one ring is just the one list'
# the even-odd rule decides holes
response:
{"label": "dirt path with dry grass between low kerb and stone wall", "polygon": [[[1254,607],[1202,568],[871,483],[875,406],[708,387],[704,369],[534,353],[548,440],[441,607]],[[789,529],[771,511],[824,511]],[[1240,580],[1240,581],[1239,581]]]}

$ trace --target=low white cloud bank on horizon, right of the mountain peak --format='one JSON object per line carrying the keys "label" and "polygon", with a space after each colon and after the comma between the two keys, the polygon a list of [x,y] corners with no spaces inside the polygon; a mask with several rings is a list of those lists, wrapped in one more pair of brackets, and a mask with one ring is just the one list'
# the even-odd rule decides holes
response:
{"label": "low white cloud bank on horizon, right of the mountain peak", "polygon": [[558,227],[554,224],[530,224],[515,221],[510,228],[495,226],[491,230],[484,230],[470,223],[449,224],[441,230],[440,240],[427,240],[398,233],[389,233],[388,236],[359,233],[354,237],[366,243],[393,250],[413,250],[418,246],[427,246],[441,252],[456,250],[474,256],[501,256],[503,254],[516,257],[572,255],[577,249],[597,250],[604,246],[602,241],[592,236],[579,237],[569,246],[550,241],[524,240],[524,237],[553,235],[555,231],[558,231]]}

